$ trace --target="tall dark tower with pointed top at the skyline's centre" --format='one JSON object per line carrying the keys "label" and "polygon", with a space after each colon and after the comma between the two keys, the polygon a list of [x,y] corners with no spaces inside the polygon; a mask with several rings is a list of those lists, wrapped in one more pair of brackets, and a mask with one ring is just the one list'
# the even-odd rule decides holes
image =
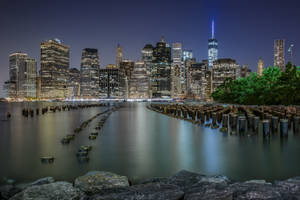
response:
{"label": "tall dark tower with pointed top at the skyline's centre", "polygon": [[171,97],[171,48],[164,37],[153,49],[151,89],[152,98]]}

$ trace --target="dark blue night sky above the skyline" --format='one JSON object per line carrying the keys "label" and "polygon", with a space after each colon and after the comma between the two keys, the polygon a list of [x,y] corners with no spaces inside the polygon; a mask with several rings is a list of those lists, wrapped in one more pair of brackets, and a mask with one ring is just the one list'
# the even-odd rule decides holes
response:
{"label": "dark blue night sky above the skyline", "polygon": [[118,43],[124,58],[140,59],[143,46],[161,35],[169,44],[192,49],[201,61],[207,58],[212,19],[219,58],[234,58],[256,71],[259,57],[273,64],[274,39],[282,38],[286,60],[293,43],[294,63],[300,65],[299,9],[299,0],[1,0],[0,91],[8,79],[9,54],[23,51],[39,61],[40,42],[51,38],[71,47],[70,67],[80,67],[87,47],[98,48],[101,67],[115,63]]}

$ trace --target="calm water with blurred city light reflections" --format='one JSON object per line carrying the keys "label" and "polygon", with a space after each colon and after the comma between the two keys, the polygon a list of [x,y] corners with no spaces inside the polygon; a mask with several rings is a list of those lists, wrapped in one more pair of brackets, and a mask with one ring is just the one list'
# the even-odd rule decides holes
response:
{"label": "calm water with blurred city light reflections", "polygon": [[[45,103],[44,103],[45,104]],[[50,103],[48,103],[50,104]],[[203,174],[224,174],[235,180],[269,181],[300,176],[300,138],[240,137],[220,133],[146,109],[145,103],[127,103],[110,115],[95,141],[88,135],[94,120],[69,145],[60,140],[79,124],[106,108],[21,116],[27,103],[0,103],[0,179],[26,182],[45,176],[72,181],[90,170],[111,171],[134,181],[169,176],[181,169]],[[32,103],[31,106],[41,106]],[[93,145],[90,162],[78,163],[81,145]],[[41,156],[53,155],[53,164]]]}

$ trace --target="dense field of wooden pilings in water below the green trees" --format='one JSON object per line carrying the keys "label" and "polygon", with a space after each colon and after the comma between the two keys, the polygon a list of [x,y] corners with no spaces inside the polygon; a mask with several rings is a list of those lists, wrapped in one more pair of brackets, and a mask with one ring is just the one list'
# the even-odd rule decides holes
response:
{"label": "dense field of wooden pilings in water below the green trees", "polygon": [[[290,112],[285,109],[270,109],[258,106],[227,106],[184,104],[151,104],[150,109],[172,117],[189,120],[196,124],[206,123],[206,127],[220,128],[222,132],[236,134],[258,134],[260,124],[264,137],[280,132],[281,136],[288,136],[293,127],[293,133],[299,133],[299,112]],[[271,107],[273,108],[273,107]]]}

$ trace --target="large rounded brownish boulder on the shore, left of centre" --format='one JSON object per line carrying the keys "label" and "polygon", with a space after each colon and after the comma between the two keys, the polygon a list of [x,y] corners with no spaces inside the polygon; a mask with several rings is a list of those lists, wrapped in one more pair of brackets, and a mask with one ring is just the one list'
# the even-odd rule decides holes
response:
{"label": "large rounded brownish boulder on the shore, left of centre", "polygon": [[128,178],[111,172],[93,171],[75,180],[75,187],[88,195],[100,193],[101,190],[129,186]]}

